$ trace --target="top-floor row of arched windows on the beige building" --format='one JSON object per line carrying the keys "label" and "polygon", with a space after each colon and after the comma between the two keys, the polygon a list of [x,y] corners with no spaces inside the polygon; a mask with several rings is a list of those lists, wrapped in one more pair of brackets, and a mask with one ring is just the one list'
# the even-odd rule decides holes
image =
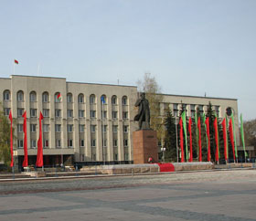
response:
{"label": "top-floor row of arched windows on the beige building", "polygon": [[[22,90],[19,90],[18,92],[17,92],[17,95],[16,95],[17,97],[16,97],[16,99],[17,99],[17,101],[24,101],[24,92],[22,91]],[[59,93],[59,92],[56,92],[55,93],[55,95],[54,95],[54,101],[55,102],[61,102],[61,94]],[[4,100],[11,100],[11,93],[10,93],[10,90],[8,90],[8,89],[6,89],[5,91],[4,91]],[[31,101],[31,102],[36,102],[37,101],[37,93],[35,92],[35,91],[31,91],[30,93],[29,93],[29,100]],[[48,92],[44,92],[43,94],[42,94],[42,100],[43,100],[43,102],[48,102],[49,101],[49,94],[48,94]],[[107,103],[107,97],[105,96],[105,95],[102,95],[101,96],[101,102],[102,103]],[[128,103],[127,103],[127,97],[126,96],[123,96],[123,98],[122,98],[122,104],[123,105],[127,105]],[[73,102],[73,95],[71,94],[71,93],[68,93],[67,94],[67,102],[68,103],[71,103],[71,102]],[[78,102],[79,103],[84,103],[85,102],[85,99],[84,99],[84,95],[83,94],[79,94],[79,96],[78,96]],[[95,95],[94,94],[91,94],[90,95],[90,103],[91,104],[94,104],[94,103],[96,103],[96,97],[95,97]],[[115,104],[118,104],[118,99],[117,99],[117,96],[116,95],[113,95],[112,96],[112,104],[113,105],[115,105]]]}

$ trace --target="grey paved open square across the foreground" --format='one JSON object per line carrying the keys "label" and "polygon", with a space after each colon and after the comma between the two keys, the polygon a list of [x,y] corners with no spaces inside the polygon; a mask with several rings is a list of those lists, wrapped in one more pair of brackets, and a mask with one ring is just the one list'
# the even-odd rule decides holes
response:
{"label": "grey paved open square across the foreground", "polygon": [[256,170],[1,182],[0,220],[256,220]]}

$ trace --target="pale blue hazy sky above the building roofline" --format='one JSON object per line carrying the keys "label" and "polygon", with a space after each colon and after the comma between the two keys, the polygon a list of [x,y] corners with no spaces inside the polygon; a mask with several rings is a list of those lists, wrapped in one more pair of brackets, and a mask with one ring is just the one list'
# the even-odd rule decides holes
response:
{"label": "pale blue hazy sky above the building roofline", "polygon": [[256,119],[255,0],[0,0],[0,78],[136,85],[238,99]]}

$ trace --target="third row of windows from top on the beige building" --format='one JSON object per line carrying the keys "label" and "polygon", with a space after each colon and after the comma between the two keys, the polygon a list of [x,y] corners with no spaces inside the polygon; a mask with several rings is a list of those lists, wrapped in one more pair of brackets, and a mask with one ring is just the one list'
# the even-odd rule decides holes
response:
{"label": "third row of windows from top on the beige building", "polygon": [[[96,125],[91,124],[91,132],[96,132]],[[79,132],[84,132],[85,125],[80,124],[79,125]],[[73,124],[68,124],[67,125],[67,131],[68,132],[73,132]],[[108,126],[107,125],[102,125],[101,126],[101,131],[102,132],[107,132],[108,131]],[[129,126],[124,125],[123,126],[123,132],[128,132],[129,131]],[[17,124],[17,132],[23,132],[23,124]],[[37,124],[30,124],[30,132],[37,132]],[[43,124],[43,132],[49,132],[49,124]],[[55,124],[55,132],[61,132],[61,124]],[[112,126],[112,132],[118,132],[118,125],[113,125]]]}

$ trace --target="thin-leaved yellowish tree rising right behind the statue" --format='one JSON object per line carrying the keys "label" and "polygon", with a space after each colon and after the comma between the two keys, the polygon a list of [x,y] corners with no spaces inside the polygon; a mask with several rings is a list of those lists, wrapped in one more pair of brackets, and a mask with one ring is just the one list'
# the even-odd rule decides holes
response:
{"label": "thin-leaved yellowish tree rising right behind the statue", "polygon": [[163,100],[161,88],[157,84],[155,77],[150,73],[144,74],[143,80],[137,81],[138,89],[144,92],[150,106],[150,127],[157,132],[157,139],[161,141],[164,134],[163,118],[160,115],[160,103]]}

